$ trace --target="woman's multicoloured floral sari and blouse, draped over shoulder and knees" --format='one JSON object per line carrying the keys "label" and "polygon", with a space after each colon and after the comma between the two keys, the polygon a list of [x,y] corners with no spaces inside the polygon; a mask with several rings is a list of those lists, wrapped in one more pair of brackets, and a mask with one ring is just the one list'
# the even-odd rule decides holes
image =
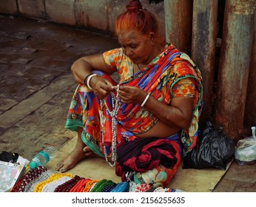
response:
{"label": "woman's multicoloured floral sari and blouse, draped over shoulder and knees", "polygon": [[[112,72],[118,72],[121,86],[138,86],[145,92],[160,101],[169,105],[175,96],[173,86],[183,78],[195,79],[194,109],[192,123],[188,129],[183,129],[178,138],[181,141],[183,155],[189,152],[196,144],[198,137],[198,121],[202,109],[202,78],[201,72],[191,61],[188,55],[179,52],[172,45],[166,45],[165,51],[155,57],[152,62],[132,74],[132,61],[124,55],[121,48],[104,52],[103,58],[107,67]],[[103,72],[93,71],[94,73],[107,78],[113,85],[117,83]],[[189,94],[189,89],[184,89],[184,94]],[[105,98],[108,107],[112,109],[110,95]],[[100,100],[94,93],[84,85],[78,85],[68,112],[66,128],[76,130],[78,126],[84,129],[81,137],[87,146],[98,155],[104,155],[102,145],[101,130],[104,130],[104,144],[107,155],[111,155],[112,143],[112,122],[110,114],[104,106],[103,117],[101,115]],[[101,129],[103,119],[104,129]],[[116,136],[117,144],[122,140],[135,140],[136,135],[151,129],[158,118],[151,112],[146,111],[139,104],[124,104],[116,115]],[[182,151],[182,150],[181,150]]]}

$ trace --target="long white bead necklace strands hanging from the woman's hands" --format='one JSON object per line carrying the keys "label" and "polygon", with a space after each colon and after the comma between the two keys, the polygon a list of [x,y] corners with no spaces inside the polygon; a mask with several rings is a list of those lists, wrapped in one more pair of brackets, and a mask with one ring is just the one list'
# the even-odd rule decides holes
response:
{"label": "long white bead necklace strands hanging from the woman's hands", "polygon": [[[116,96],[113,92],[110,92],[111,95],[111,101],[112,101],[112,111],[110,111],[109,107],[107,106],[107,103],[105,99],[101,99],[101,138],[102,138],[102,146],[103,146],[103,151],[105,155],[105,159],[107,163],[110,164],[110,166],[115,166],[116,162],[116,115],[118,114],[118,110],[120,109],[120,98],[119,98],[119,85],[117,85],[117,90],[116,90]],[[110,113],[111,116],[111,128],[112,128],[112,157],[111,160],[113,163],[110,163],[110,161],[107,159],[107,152],[106,152],[106,146],[104,143],[104,115],[103,115],[103,104],[106,106],[107,112]]]}

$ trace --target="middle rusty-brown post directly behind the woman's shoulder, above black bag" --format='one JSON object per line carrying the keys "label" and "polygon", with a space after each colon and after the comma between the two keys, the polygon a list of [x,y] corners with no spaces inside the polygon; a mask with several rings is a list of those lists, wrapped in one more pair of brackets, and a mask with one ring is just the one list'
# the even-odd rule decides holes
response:
{"label": "middle rusty-brown post directly behind the woman's shoulder, above black bag", "polygon": [[203,76],[203,112],[201,123],[211,120],[212,89],[215,78],[218,1],[195,0],[192,26],[192,60]]}

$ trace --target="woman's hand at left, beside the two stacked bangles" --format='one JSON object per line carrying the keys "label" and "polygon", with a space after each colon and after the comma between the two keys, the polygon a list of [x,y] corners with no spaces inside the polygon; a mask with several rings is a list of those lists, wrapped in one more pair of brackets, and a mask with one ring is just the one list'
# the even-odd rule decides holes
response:
{"label": "woman's hand at left, beside the two stacked bangles", "polygon": [[104,99],[107,95],[114,90],[113,85],[105,78],[95,75],[90,79],[90,86],[95,96]]}

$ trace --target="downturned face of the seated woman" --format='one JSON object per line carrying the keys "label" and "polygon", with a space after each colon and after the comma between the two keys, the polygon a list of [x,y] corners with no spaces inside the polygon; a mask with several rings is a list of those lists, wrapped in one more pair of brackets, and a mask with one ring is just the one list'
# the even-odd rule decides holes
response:
{"label": "downturned face of the seated woman", "polygon": [[150,35],[145,36],[136,32],[118,34],[118,41],[124,51],[135,64],[149,64],[153,54],[153,42]]}

